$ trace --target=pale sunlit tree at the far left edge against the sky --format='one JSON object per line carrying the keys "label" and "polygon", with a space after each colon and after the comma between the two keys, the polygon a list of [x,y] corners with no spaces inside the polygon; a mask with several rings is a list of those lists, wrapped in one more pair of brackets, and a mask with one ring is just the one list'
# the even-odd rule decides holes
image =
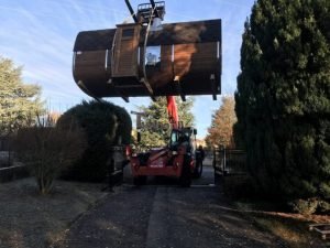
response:
{"label": "pale sunlit tree at the far left edge against the sky", "polygon": [[44,112],[41,88],[24,84],[21,75],[11,60],[0,57],[0,136],[32,125]]}

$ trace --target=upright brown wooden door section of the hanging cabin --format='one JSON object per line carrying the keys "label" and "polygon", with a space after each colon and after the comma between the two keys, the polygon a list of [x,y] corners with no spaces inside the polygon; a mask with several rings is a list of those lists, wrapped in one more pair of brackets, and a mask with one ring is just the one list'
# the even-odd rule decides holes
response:
{"label": "upright brown wooden door section of the hanging cabin", "polygon": [[112,77],[139,78],[138,52],[141,25],[117,25]]}

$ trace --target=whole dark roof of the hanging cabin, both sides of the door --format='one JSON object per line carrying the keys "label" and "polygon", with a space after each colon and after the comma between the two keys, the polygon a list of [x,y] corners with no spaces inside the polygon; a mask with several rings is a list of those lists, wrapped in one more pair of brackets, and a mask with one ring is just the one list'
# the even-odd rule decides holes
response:
{"label": "whole dark roof of the hanging cabin, both sides of the door", "polygon": [[[144,44],[145,28],[140,45]],[[74,51],[111,50],[116,29],[82,31],[78,33]],[[147,45],[172,45],[221,41],[221,20],[163,24],[162,31],[151,32]]]}

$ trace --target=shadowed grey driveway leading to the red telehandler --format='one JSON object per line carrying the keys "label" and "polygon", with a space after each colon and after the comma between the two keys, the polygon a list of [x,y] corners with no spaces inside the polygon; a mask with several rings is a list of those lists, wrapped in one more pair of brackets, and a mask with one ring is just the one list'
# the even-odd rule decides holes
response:
{"label": "shadowed grey driveway leading to the red telehandler", "polygon": [[[211,175],[208,170],[211,168],[206,175]],[[274,236],[229,211],[231,206],[220,188],[206,182],[204,177],[190,188],[174,184],[118,187],[76,222],[63,244],[55,247],[285,247]]]}

